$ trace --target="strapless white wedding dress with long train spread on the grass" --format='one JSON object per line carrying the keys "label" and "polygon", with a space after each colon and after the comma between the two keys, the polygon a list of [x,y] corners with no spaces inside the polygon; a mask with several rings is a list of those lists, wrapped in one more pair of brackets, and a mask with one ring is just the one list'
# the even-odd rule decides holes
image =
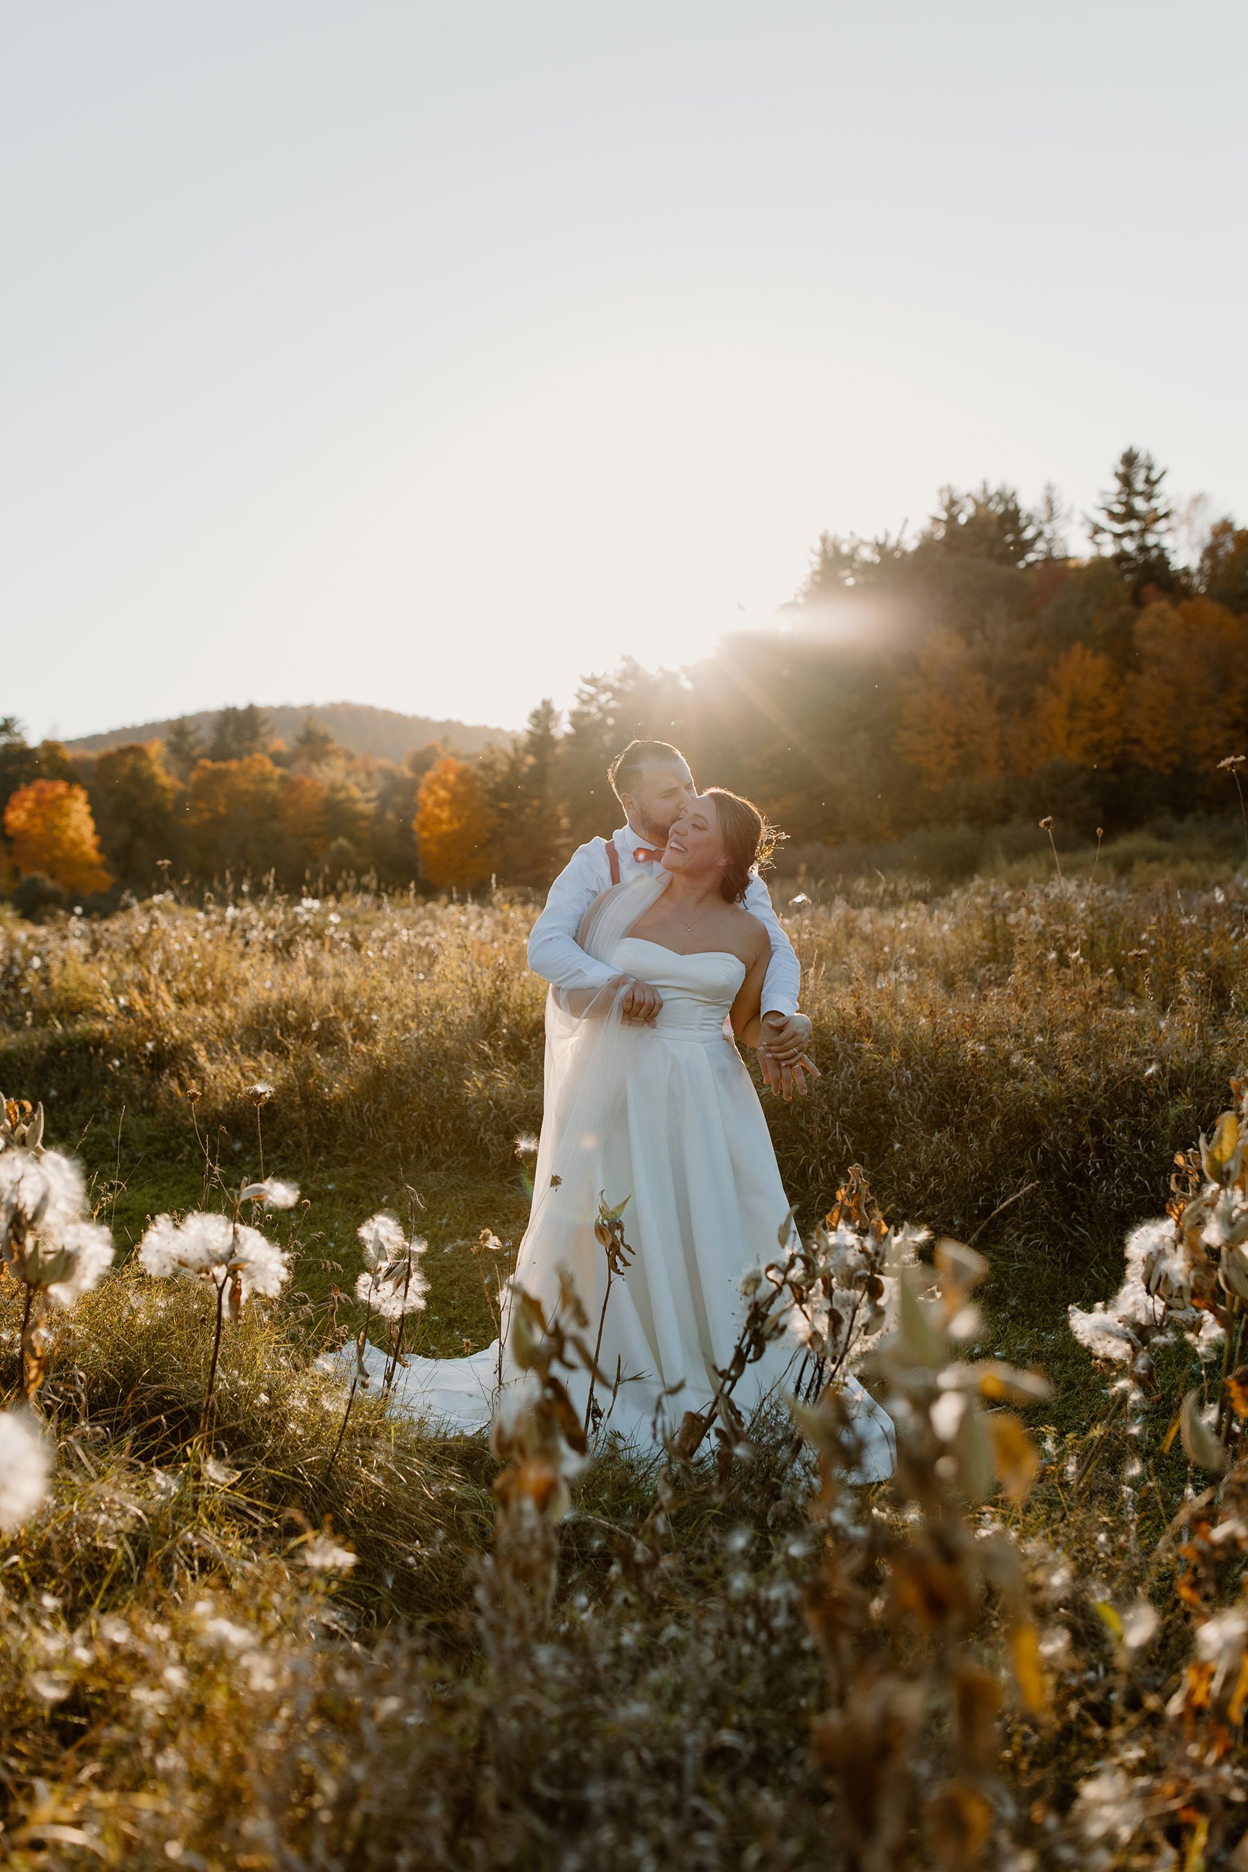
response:
{"label": "strapless white wedding dress with long train spread on the grass", "polygon": [[[653,889],[647,895],[653,900]],[[677,955],[631,934],[612,942],[608,958],[651,983],[662,1009],[653,1028],[616,1024],[614,1035],[593,1031],[601,1020],[571,1022],[571,1063],[552,1067],[548,1048],[533,1213],[516,1284],[550,1310],[563,1265],[593,1344],[606,1288],[606,1256],[593,1236],[599,1196],[610,1207],[627,1198],[621,1222],[632,1260],[612,1280],[599,1353],[608,1383],[599,1382],[595,1397],[608,1430],[653,1447],[657,1413],[675,1426],[687,1410],[711,1400],[717,1367],[728,1365],[745,1318],[741,1279],[776,1258],[790,1204],[758,1093],[724,1033],[745,962],[718,949]],[[567,1016],[550,1007],[548,1031],[559,1018]],[[370,1346],[365,1359],[380,1378],[384,1353]],[[515,1383],[498,1342],[458,1359],[408,1355],[393,1398],[430,1430],[481,1430],[498,1408],[500,1363],[503,1387]],[[748,1419],[767,1395],[782,1398],[797,1363],[788,1333],[773,1340],[733,1391],[741,1413]],[[584,1372],[569,1382],[582,1413],[588,1385]],[[892,1421],[857,1380],[848,1378],[846,1391],[863,1445],[857,1477],[891,1475]]]}

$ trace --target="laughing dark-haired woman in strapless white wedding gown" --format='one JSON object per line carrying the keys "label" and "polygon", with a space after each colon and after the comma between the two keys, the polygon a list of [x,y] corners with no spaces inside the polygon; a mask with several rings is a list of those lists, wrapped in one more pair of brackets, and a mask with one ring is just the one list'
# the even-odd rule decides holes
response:
{"label": "laughing dark-haired woman in strapless white wedding gown", "polygon": [[[533,1207],[516,1284],[543,1301],[571,1273],[593,1322],[608,1267],[595,1241],[601,1202],[623,1209],[632,1258],[610,1286],[595,1387],[610,1430],[649,1441],[659,1410],[704,1408],[732,1357],[741,1280],[776,1256],[790,1215],[754,1082],[732,1035],[758,1045],[771,938],[741,899],[765,857],[767,827],[718,786],[687,807],[659,865],[612,885],[586,912],[580,945],[617,970],[604,988],[552,988],[546,1097]],[[631,981],[662,996],[647,1024],[621,1016]],[[733,1400],[743,1415],[784,1391],[795,1346],[784,1335],[748,1365]],[[376,1348],[365,1350],[382,1370]],[[518,1376],[498,1342],[462,1359],[410,1355],[397,1402],[430,1428],[490,1423],[498,1389]],[[588,1374],[569,1383],[580,1411]],[[849,1378],[861,1436],[859,1477],[892,1471],[892,1423]]]}

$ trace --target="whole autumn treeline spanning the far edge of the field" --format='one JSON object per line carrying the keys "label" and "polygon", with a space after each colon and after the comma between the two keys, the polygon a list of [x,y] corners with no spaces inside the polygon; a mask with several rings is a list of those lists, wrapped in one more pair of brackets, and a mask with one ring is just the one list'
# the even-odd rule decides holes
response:
{"label": "whole autumn treeline spanning the far edge of the field", "polygon": [[206,745],[183,723],[73,758],[0,724],[0,863],[28,897],[32,878],[116,893],[157,874],[544,887],[617,822],[606,766],[632,736],[675,741],[803,846],[1220,811],[1220,764],[1248,751],[1248,530],[1214,520],[1179,558],[1164,483],[1125,449],[1083,556],[1052,492],[1031,511],[1009,487],[943,489],[913,537],[825,534],[780,629],[586,678],[567,723],[543,702],[473,756],[376,760],[316,721],[286,747],[254,706]]}

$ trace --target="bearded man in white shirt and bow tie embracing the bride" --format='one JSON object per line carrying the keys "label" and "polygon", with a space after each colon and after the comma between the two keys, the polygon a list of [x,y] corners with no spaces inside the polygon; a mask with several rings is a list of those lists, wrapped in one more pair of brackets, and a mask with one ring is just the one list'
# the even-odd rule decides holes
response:
{"label": "bearded man in white shirt and bow tie embracing the bride", "polygon": [[[698,797],[685,756],[666,741],[631,741],[612,762],[608,779],[625,824],[610,839],[589,839],[573,852],[530,934],[530,968],[556,988],[602,988],[616,979],[606,962],[595,962],[576,942],[580,919],[610,884],[638,876],[642,865],[659,863],[668,831]],[[806,1091],[806,1073],[820,1076],[806,1058],[810,1020],[797,1013],[801,966],[758,876],[747,885],[745,908],[771,936],[758,1063],[771,1090],[791,1099],[793,1091]],[[647,983],[634,981],[621,1005],[625,1020],[653,1022],[662,998]]]}

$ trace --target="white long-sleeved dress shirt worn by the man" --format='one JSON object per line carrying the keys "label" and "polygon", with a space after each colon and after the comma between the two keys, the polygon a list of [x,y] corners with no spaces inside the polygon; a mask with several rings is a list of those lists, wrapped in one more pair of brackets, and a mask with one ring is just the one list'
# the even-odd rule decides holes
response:
{"label": "white long-sleeved dress shirt worn by the man", "polygon": [[[619,874],[623,880],[638,876],[634,852],[646,841],[621,826],[614,833],[619,854]],[[616,979],[617,970],[606,962],[595,962],[576,942],[580,919],[586,910],[612,882],[610,859],[602,839],[589,839],[569,857],[559,876],[550,885],[546,908],[530,932],[530,968],[554,988],[602,988]],[[762,878],[752,876],[745,887],[745,908],[767,927],[771,936],[771,964],[763,981],[765,1015],[791,1015],[797,1011],[801,990],[801,964],[793,955],[793,943],[780,929],[771,893]]]}

